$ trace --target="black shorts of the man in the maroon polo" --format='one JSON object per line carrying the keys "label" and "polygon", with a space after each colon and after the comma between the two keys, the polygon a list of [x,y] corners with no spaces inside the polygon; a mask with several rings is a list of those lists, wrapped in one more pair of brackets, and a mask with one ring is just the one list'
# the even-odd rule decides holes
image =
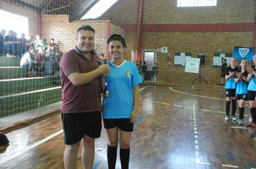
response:
{"label": "black shorts of the man in the maroon polo", "polygon": [[74,145],[84,135],[92,138],[101,136],[101,112],[62,113],[64,143]]}

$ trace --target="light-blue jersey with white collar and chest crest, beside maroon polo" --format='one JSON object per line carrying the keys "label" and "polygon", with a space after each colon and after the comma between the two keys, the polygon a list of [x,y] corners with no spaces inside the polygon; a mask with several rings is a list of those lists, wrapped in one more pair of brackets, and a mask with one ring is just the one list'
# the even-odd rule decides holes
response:
{"label": "light-blue jersey with white collar and chest crest, beside maroon polo", "polygon": [[102,116],[105,119],[129,118],[134,109],[132,87],[140,84],[142,79],[132,62],[124,60],[118,67],[111,61],[107,63],[110,67],[107,76],[109,97],[103,97]]}

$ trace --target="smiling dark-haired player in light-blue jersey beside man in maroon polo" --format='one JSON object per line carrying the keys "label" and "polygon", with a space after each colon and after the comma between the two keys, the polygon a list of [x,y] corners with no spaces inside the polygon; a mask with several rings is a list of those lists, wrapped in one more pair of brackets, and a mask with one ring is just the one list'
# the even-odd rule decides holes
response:
{"label": "smiling dark-haired player in light-blue jersey beside man in maroon polo", "polygon": [[113,34],[107,43],[112,59],[107,62],[110,67],[107,74],[109,97],[102,102],[102,116],[108,135],[108,165],[109,168],[115,168],[119,142],[121,166],[129,168],[130,140],[137,120],[139,84],[142,79],[135,64],[123,59],[124,49],[127,47],[124,38]]}

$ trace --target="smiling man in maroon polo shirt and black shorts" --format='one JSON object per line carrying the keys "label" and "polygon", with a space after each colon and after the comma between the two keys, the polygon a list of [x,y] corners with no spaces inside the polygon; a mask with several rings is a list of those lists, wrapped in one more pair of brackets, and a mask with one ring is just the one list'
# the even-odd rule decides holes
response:
{"label": "smiling man in maroon polo shirt and black shorts", "polygon": [[101,135],[101,74],[109,72],[108,64],[99,66],[93,52],[94,29],[81,26],[76,47],[65,52],[60,62],[63,104],[61,107],[65,168],[76,168],[82,142],[83,168],[93,168],[95,138]]}

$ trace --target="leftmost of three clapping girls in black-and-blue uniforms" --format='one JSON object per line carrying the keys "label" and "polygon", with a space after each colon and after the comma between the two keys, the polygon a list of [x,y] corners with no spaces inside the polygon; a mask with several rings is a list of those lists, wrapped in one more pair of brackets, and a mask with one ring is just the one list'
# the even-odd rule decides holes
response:
{"label": "leftmost of three clapping girls in black-and-blue uniforms", "polygon": [[226,117],[224,120],[229,120],[229,109],[232,100],[232,120],[236,121],[237,118],[235,116],[236,108],[237,108],[237,100],[236,100],[236,82],[234,79],[237,77],[236,72],[238,71],[237,67],[237,58],[232,57],[229,61],[229,66],[225,69],[225,79],[227,80],[225,89],[226,89]]}

